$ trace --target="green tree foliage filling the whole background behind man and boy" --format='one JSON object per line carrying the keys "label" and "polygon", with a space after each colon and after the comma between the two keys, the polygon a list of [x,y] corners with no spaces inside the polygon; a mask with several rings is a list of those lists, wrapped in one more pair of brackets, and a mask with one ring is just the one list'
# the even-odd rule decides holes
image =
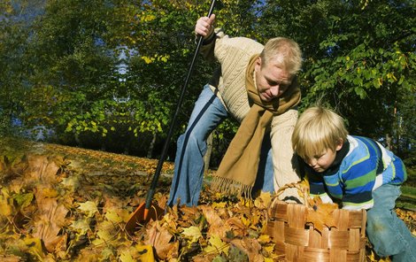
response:
{"label": "green tree foliage filling the whole background behind man and boy", "polygon": [[[122,138],[149,147],[153,135],[163,142],[196,48],[195,21],[211,1],[13,3],[0,4],[0,135],[44,126],[63,143],[104,147]],[[301,111],[327,104],[351,134],[374,137],[414,163],[414,1],[225,0],[214,12],[231,36],[299,42]],[[214,67],[197,60],[175,137]],[[229,120],[215,131],[214,158],[236,127]]]}

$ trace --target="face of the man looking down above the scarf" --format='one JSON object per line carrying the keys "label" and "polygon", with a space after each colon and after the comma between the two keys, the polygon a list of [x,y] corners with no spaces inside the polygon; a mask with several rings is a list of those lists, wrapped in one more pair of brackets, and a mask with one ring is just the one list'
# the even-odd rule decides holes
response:
{"label": "face of the man looking down above the scarf", "polygon": [[261,100],[270,102],[289,88],[292,78],[289,72],[277,67],[273,58],[263,67],[261,65],[262,60],[258,58],[255,65],[258,95]]}

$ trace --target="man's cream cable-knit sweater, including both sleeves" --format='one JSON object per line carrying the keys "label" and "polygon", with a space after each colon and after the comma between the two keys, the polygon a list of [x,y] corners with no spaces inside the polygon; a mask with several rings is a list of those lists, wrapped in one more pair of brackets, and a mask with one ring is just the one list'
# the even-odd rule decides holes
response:
{"label": "man's cream cable-knit sweater, including both sleeves", "polygon": [[[219,90],[217,96],[225,105],[227,112],[242,122],[250,111],[245,88],[245,71],[250,58],[259,54],[264,46],[249,38],[229,37],[220,29],[215,29],[215,33],[216,35],[213,35],[215,39],[204,44],[200,51],[205,59],[220,62],[221,75],[218,76],[220,79],[217,78]],[[206,39],[210,39],[210,35]],[[297,162],[293,161],[295,158],[291,146],[291,135],[296,122],[296,108],[273,116],[272,119],[270,136],[273,149],[273,184],[276,191],[288,183],[300,181],[296,173]],[[285,191],[281,198],[285,196],[297,196],[297,189]]]}

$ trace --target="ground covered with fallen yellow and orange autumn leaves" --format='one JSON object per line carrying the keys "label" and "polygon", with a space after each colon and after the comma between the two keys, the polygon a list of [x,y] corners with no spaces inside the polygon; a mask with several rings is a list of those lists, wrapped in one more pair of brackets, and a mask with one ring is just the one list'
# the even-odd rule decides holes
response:
{"label": "ground covered with fallen yellow and orange autumn leaves", "polygon": [[[247,203],[209,188],[200,205],[168,208],[128,232],[158,161],[48,143],[0,139],[2,261],[283,261],[266,234],[273,196]],[[154,204],[165,206],[173,164]],[[415,213],[397,214],[416,231]],[[368,261],[376,258],[366,248]]]}

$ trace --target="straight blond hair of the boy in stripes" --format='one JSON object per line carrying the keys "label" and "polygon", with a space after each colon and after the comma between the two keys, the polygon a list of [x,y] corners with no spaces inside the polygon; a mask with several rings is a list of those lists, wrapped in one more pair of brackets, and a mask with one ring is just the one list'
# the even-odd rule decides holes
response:
{"label": "straight blond hair of the boy in stripes", "polygon": [[297,119],[292,147],[299,157],[309,159],[327,149],[335,151],[340,142],[346,141],[347,135],[340,115],[321,106],[312,106]]}

